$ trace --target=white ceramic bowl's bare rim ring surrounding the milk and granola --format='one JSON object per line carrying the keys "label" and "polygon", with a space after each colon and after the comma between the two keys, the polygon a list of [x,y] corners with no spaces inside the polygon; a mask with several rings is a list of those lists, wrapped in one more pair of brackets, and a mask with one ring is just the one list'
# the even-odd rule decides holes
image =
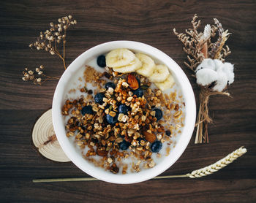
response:
{"label": "white ceramic bowl's bare rim ring surrounding the milk and granola", "polygon": [[[67,88],[67,81],[69,81],[69,79],[72,77],[72,74],[84,66],[86,61],[90,61],[91,58],[96,58],[98,55],[101,55],[102,53],[108,53],[110,50],[116,48],[128,48],[135,52],[146,53],[153,56],[158,61],[161,61],[162,64],[167,65],[171,72],[175,74],[176,80],[178,80],[178,83],[181,85],[181,91],[184,96],[184,102],[186,104],[184,129],[181,132],[180,139],[178,139],[178,142],[176,143],[176,147],[170,150],[170,155],[166,156],[163,161],[158,163],[152,169],[145,169],[139,173],[129,173],[126,175],[114,175],[88,163],[80,155],[78,150],[75,150],[72,142],[69,142],[69,139],[66,137],[64,120],[61,115],[61,107],[64,105],[64,90]],[[78,166],[78,168],[99,180],[104,180],[110,183],[139,183],[161,174],[170,166],[172,166],[187,148],[189,140],[192,137],[192,132],[195,126],[195,111],[195,96],[189,80],[187,79],[186,74],[184,74],[180,66],[178,66],[178,64],[176,64],[172,58],[157,48],[140,42],[132,41],[107,42],[101,45],[97,45],[96,47],[92,47],[91,49],[79,55],[78,58],[76,58],[75,61],[69,65],[64,74],[62,74],[53,96],[53,126],[61,148],[70,158],[70,160],[76,166]]]}

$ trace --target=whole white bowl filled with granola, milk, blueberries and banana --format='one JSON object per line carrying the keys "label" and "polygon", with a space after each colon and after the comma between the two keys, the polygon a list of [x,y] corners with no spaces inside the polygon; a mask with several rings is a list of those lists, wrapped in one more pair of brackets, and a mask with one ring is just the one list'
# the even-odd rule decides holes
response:
{"label": "whole white bowl filled with granola, milk, blueberries and banana", "polygon": [[192,137],[195,115],[186,74],[141,42],[86,50],[53,96],[53,126],[64,153],[110,183],[139,183],[172,166]]}

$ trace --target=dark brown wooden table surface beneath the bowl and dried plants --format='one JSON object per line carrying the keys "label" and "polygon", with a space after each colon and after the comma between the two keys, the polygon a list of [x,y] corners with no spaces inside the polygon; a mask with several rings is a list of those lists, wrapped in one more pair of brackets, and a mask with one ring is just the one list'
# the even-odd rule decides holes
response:
{"label": "dark brown wooden table surface beneath the bowl and dried plants", "polygon": [[[0,202],[256,202],[256,3],[255,1],[2,1],[0,6]],[[203,24],[218,18],[231,33],[227,44],[235,64],[233,96],[210,101],[214,123],[210,143],[195,145],[195,133],[176,164],[162,175],[181,175],[212,164],[244,145],[245,156],[200,179],[148,180],[135,185],[97,182],[32,183],[35,178],[89,177],[71,162],[61,164],[37,154],[31,129],[51,107],[57,80],[42,86],[21,80],[25,66],[45,65],[60,77],[61,60],[30,50],[51,21],[73,15],[78,25],[67,34],[67,64],[102,42],[144,42],[170,55],[198,89],[173,27],[184,31],[197,13]],[[197,97],[198,98],[198,97]],[[197,100],[198,102],[198,100]]]}

